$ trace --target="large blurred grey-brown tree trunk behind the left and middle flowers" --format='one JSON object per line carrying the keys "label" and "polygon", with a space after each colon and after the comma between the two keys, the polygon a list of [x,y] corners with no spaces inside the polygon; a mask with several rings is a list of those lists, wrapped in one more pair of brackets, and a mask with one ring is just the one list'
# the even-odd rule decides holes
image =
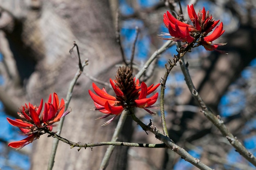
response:
{"label": "large blurred grey-brown tree trunk behind the left and middle flowers", "polygon": [[[89,59],[84,72],[106,82],[110,77],[114,78],[115,64],[121,63],[121,55],[108,1],[15,0],[2,1],[1,6],[4,9],[1,28],[12,52],[9,57],[16,63],[16,67],[9,69],[18,70],[16,76],[20,78],[18,85],[5,88],[5,95],[32,104],[39,104],[41,98],[47,101],[53,92],[65,99],[70,81],[78,69],[76,50],[72,54],[76,57],[69,54],[73,41],[79,45],[81,60]],[[4,57],[8,57],[8,53],[4,53]],[[6,77],[7,82],[14,81],[10,74]],[[70,103],[72,112],[65,119],[61,134],[74,142],[110,141],[115,129],[115,123],[102,127],[106,119],[95,120],[102,114],[90,110],[94,107],[88,95],[91,84],[92,81],[82,74],[74,88]],[[131,132],[121,136],[127,141]],[[47,135],[33,142],[31,169],[47,169],[51,148],[52,138],[47,138]],[[123,154],[114,154],[115,164],[110,163],[108,169],[125,169],[127,159],[124,153],[127,149],[119,148]],[[92,150],[82,148],[78,152],[77,148],[70,149],[67,144],[59,142],[54,170],[96,170],[105,151],[106,146],[101,146]]]}

